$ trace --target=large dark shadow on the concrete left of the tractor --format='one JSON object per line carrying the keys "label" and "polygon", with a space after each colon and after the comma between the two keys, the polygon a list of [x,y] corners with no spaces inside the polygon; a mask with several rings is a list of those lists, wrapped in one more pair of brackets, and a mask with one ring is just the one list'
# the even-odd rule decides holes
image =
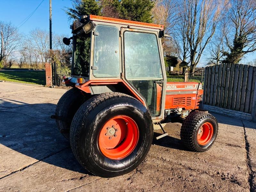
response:
{"label": "large dark shadow on the concrete left of the tractor", "polygon": [[56,104],[27,104],[0,99],[0,106],[0,144],[7,147],[1,147],[4,151],[1,158],[9,162],[8,154],[13,154],[13,163],[8,163],[10,168],[19,162],[21,153],[47,164],[91,175],[77,162],[69,141],[60,134],[55,120],[50,118],[55,113]]}

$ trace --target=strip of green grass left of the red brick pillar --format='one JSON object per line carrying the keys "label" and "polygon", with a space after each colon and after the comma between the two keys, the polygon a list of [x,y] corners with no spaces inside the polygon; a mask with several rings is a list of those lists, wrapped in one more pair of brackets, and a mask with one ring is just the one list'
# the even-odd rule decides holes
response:
{"label": "strip of green grass left of the red brick pillar", "polygon": [[0,71],[0,80],[45,85],[45,71]]}

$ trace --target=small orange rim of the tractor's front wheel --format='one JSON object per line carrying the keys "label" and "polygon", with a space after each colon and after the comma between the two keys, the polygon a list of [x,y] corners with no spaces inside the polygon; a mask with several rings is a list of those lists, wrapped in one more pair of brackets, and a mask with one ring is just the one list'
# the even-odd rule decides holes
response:
{"label": "small orange rim of the tractor's front wheel", "polygon": [[213,136],[213,126],[211,123],[206,122],[198,130],[197,142],[200,145],[206,145],[211,141],[212,136]]}

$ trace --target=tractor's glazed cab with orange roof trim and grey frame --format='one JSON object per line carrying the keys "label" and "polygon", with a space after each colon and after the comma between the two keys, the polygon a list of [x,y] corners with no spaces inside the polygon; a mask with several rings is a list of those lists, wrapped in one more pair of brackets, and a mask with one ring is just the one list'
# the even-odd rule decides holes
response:
{"label": "tractor's glazed cab with orange roof trim and grey frame", "polygon": [[72,78],[67,83],[82,90],[87,83],[93,94],[125,90],[148,106],[153,118],[164,117],[163,25],[89,15],[71,27]]}

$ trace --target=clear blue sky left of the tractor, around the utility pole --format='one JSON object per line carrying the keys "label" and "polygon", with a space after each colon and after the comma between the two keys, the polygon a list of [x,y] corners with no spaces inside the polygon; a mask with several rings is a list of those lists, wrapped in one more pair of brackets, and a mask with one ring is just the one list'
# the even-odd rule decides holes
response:
{"label": "clear blue sky left of the tractor, around the utility pole", "polygon": [[[32,13],[42,0],[0,0],[0,20],[11,21],[18,26]],[[52,0],[52,32],[70,34],[68,17],[63,9],[71,7],[70,0]],[[42,28],[49,30],[49,0],[44,0],[30,19],[22,25],[20,32],[27,34],[31,29]]]}

